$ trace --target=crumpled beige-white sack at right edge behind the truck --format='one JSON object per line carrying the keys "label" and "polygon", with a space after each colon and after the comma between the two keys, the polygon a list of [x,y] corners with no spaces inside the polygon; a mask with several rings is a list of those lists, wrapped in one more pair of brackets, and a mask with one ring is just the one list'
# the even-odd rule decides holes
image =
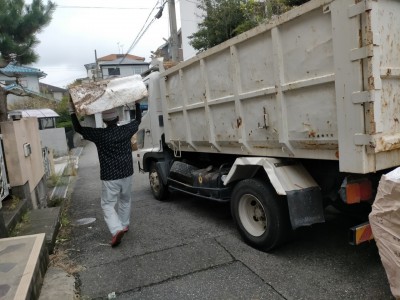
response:
{"label": "crumpled beige-white sack at right edge behind the truck", "polygon": [[400,299],[400,168],[381,177],[369,222],[390,290]]}

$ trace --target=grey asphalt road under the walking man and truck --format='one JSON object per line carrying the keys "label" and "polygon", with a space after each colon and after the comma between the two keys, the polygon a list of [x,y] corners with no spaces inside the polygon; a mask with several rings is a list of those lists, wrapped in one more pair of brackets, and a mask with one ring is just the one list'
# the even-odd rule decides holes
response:
{"label": "grey asphalt road under the walking man and truck", "polygon": [[[70,207],[68,253],[82,299],[393,299],[374,242],[347,242],[354,220],[330,213],[272,253],[247,246],[227,205],[153,199],[135,170],[130,231],[111,248],[94,145],[86,144]],[[80,220],[95,218],[86,225]]]}

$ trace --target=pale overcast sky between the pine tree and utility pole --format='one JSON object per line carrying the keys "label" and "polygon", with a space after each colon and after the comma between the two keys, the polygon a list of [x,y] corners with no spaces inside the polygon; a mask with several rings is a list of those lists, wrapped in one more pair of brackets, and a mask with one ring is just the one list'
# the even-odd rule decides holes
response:
{"label": "pale overcast sky between the pine tree and utility pole", "polygon": [[[26,1],[29,3],[30,1]],[[44,0],[46,3],[47,0]],[[37,35],[35,48],[40,59],[32,66],[47,74],[41,82],[65,87],[77,78],[86,77],[85,64],[108,54],[125,54],[141,28],[154,19],[160,0],[53,0],[57,9],[51,23]],[[179,20],[179,1],[176,2]],[[145,57],[155,51],[170,36],[168,4],[130,54]],[[178,29],[179,29],[178,21]]]}

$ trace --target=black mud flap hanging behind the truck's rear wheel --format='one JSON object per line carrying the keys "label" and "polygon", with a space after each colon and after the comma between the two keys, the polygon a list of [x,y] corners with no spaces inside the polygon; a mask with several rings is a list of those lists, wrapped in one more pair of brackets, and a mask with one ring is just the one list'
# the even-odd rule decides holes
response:
{"label": "black mud flap hanging behind the truck's rear wheel", "polygon": [[288,191],[287,201],[293,229],[325,222],[319,187]]}

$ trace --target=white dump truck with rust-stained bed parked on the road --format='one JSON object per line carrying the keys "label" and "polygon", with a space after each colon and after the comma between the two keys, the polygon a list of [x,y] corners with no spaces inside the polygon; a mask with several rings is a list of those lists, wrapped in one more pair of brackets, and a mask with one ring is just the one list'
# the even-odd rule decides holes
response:
{"label": "white dump truck with rust-stained bed parked on the road", "polygon": [[397,0],[311,0],[154,64],[136,152],[154,197],[229,202],[264,251],[329,206],[360,216],[353,244],[371,239],[379,179],[400,165],[399,16]]}

